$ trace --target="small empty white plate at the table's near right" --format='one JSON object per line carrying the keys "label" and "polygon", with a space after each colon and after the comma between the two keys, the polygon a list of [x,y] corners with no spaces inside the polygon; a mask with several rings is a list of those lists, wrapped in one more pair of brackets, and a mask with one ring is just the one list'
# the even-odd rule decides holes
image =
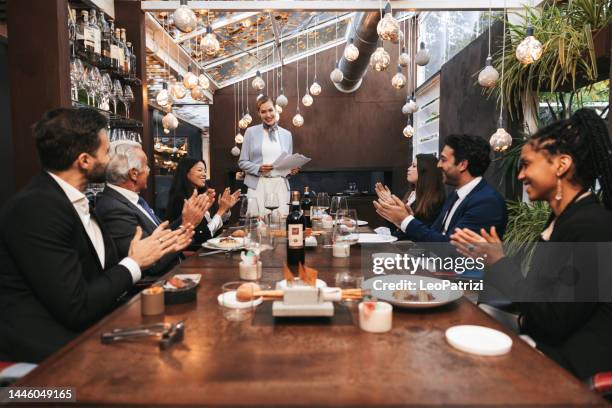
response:
{"label": "small empty white plate at the table's near right", "polygon": [[446,341],[458,350],[479,356],[501,356],[512,348],[507,334],[483,326],[453,326],[446,330]]}

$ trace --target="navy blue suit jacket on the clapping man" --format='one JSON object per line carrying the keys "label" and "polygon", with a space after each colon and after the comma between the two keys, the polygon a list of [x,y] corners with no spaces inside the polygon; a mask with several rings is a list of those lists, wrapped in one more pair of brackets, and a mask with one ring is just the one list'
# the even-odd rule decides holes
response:
{"label": "navy blue suit jacket on the clapping man", "polygon": [[480,228],[488,231],[492,226],[496,228],[500,238],[503,236],[508,221],[506,202],[484,179],[461,201],[448,224],[447,234],[443,234],[444,218],[453,204],[451,197],[446,199],[442,211],[431,227],[415,218],[406,227],[402,239],[415,242],[449,242],[455,228],[469,228],[479,232]]}

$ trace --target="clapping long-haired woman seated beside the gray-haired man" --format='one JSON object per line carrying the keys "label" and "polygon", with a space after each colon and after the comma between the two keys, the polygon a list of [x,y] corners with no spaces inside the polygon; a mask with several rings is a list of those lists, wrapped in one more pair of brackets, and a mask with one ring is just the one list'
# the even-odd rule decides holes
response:
{"label": "clapping long-haired woman seated beside the gray-haired man", "polygon": [[[181,159],[176,167],[176,173],[172,180],[170,193],[168,195],[168,206],[166,208],[166,219],[173,220],[181,216],[185,200],[189,199],[194,192],[196,194],[209,194],[215,196],[215,190],[206,185],[206,164],[201,159],[185,157]],[[219,196],[218,209],[211,217],[206,212],[204,219],[196,227],[196,243],[203,242],[216,234],[223,226],[223,221],[229,218],[229,210],[240,199],[240,190],[233,194],[226,188]]]}

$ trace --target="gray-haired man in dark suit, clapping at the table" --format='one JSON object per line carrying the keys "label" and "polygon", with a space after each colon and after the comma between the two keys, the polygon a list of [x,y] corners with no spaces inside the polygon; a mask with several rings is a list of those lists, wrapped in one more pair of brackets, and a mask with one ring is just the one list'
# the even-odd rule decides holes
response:
{"label": "gray-haired man in dark suit, clapping at the table", "polygon": [[[96,197],[96,214],[113,238],[120,256],[125,256],[130,240],[140,226],[143,236],[151,234],[161,224],[151,207],[140,196],[147,188],[150,168],[140,144],[131,141],[113,142],[106,168],[106,187]],[[199,225],[214,200],[207,194],[193,195],[183,208],[182,216],[172,221],[171,229],[184,223]],[[161,258],[145,275],[160,275],[169,271],[180,259],[171,253]]]}

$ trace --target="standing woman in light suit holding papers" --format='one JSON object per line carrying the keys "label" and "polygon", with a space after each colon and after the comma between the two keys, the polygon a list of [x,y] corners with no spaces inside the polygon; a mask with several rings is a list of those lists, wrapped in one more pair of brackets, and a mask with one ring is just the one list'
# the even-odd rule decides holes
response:
{"label": "standing woman in light suit holding papers", "polygon": [[[266,194],[278,195],[278,210],[282,215],[289,213],[289,181],[287,177],[274,175],[272,163],[282,152],[293,153],[291,132],[278,126],[274,102],[269,96],[257,101],[257,112],[261,124],[251,126],[244,134],[244,142],[238,166],[246,173],[244,184],[249,188],[247,197],[257,199],[259,215],[266,213]],[[300,169],[292,169],[295,175]]]}

